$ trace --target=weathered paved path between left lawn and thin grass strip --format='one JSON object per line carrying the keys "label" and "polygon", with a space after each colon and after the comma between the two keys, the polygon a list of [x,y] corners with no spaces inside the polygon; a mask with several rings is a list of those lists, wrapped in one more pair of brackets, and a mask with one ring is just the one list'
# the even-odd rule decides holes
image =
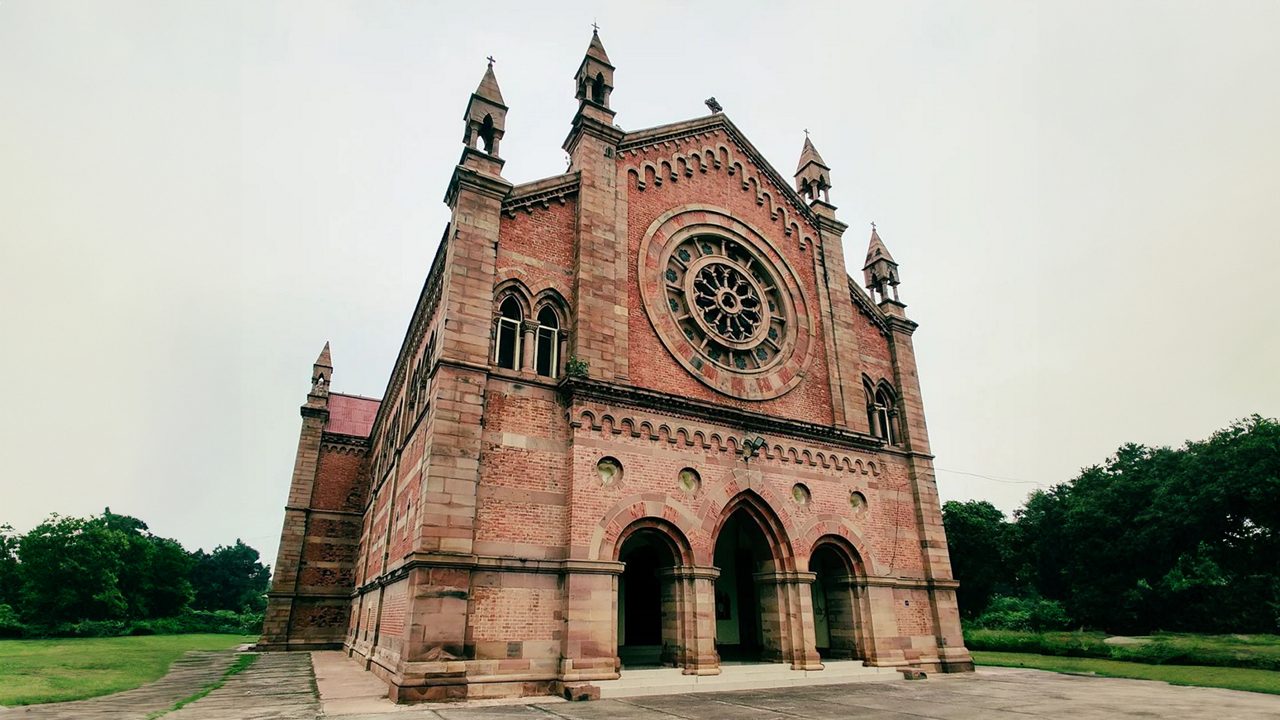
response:
{"label": "weathered paved path between left lawn and thin grass strip", "polygon": [[168,710],[173,703],[200,688],[221,678],[236,660],[230,650],[218,652],[191,651],[169,666],[169,673],[154,683],[122,693],[77,700],[73,702],[52,702],[47,705],[27,705],[22,707],[0,707],[0,717],[29,720],[78,720],[81,717],[101,717],[104,720],[125,720],[146,717],[151,712]]}

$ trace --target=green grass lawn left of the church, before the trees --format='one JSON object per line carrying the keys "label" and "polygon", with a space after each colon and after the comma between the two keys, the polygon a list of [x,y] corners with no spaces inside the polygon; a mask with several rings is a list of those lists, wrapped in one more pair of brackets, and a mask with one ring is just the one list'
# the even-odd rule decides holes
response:
{"label": "green grass lawn left of the church, before the trees", "polygon": [[228,650],[248,635],[143,635],[0,641],[0,705],[83,700],[164,676],[188,650]]}

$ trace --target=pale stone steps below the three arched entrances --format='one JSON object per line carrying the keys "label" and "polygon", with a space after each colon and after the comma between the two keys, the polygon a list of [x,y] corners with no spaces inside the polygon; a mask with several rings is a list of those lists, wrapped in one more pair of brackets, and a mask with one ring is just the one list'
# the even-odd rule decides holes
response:
{"label": "pale stone steps below the three arched entrances", "polygon": [[901,680],[902,675],[892,667],[835,661],[822,670],[792,670],[786,664],[724,665],[719,675],[685,675],[678,667],[623,670],[617,680],[598,684],[600,697],[609,698]]}

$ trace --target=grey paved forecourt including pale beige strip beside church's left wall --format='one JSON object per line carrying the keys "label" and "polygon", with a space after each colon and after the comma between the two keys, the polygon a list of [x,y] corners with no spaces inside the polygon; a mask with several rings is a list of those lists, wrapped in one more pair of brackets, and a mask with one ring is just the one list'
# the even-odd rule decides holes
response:
{"label": "grey paved forecourt including pale beige strip beside church's left wall", "polygon": [[1275,720],[1280,696],[1185,688],[1148,680],[979,667],[973,675],[927,680],[863,680],[840,685],[667,694],[564,702],[558,698],[394,705],[385,685],[338,652],[314,655],[324,717],[342,720],[1111,720],[1164,717]]}

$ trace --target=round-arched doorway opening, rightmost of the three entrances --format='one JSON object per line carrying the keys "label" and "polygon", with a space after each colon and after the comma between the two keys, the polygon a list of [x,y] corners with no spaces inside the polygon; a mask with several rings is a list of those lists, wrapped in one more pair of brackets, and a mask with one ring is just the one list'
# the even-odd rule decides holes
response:
{"label": "round-arched doorway opening, rightmost of the three entrances", "polygon": [[813,582],[813,624],[823,660],[861,657],[859,648],[858,565],[850,550],[819,542],[809,556]]}

